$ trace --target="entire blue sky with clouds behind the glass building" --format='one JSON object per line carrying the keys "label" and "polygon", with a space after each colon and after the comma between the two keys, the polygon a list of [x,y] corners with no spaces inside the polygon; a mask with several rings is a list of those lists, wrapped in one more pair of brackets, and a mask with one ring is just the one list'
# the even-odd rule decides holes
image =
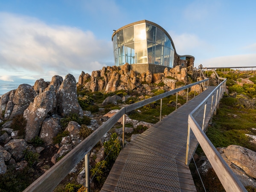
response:
{"label": "entire blue sky with clouds behind the glass building", "polygon": [[0,83],[113,66],[113,29],[150,20],[195,66],[256,66],[255,0],[0,0]]}

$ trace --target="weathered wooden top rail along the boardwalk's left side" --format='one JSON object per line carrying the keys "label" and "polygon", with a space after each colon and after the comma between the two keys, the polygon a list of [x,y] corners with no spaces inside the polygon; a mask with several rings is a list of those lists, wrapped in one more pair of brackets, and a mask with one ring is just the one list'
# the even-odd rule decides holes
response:
{"label": "weathered wooden top rail along the boardwalk's left side", "polygon": [[47,172],[45,172],[41,177],[35,180],[31,185],[29,185],[23,192],[49,192],[55,189],[58,183],[66,177],[66,175],[84,158],[97,143],[98,141],[116,124],[116,122],[129,111],[143,107],[151,102],[155,102],[166,96],[175,94],[181,90],[188,89],[196,84],[201,84],[208,79],[198,81],[183,87],[179,87],[175,90],[170,90],[166,93],[145,99],[143,101],[125,106],[121,108],[115,115],[108,119],[104,124],[99,126],[90,136],[84,139],[79,145],[77,145],[73,150],[71,150],[67,155],[65,155],[61,160],[59,160],[54,166],[52,166]]}

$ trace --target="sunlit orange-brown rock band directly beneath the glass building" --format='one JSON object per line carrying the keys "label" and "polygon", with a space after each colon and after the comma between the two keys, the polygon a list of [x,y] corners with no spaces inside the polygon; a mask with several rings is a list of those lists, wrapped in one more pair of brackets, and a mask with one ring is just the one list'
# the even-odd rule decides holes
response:
{"label": "sunlit orange-brown rock band directly beneath the glass building", "polygon": [[188,78],[186,68],[176,66],[175,68],[168,70],[166,67],[163,73],[152,74],[151,71],[148,70],[145,73],[139,74],[133,70],[130,70],[129,64],[126,63],[119,67],[103,67],[102,70],[93,71],[92,76],[82,72],[79,76],[77,86],[81,86],[82,89],[87,89],[92,92],[99,90],[105,90],[105,92],[114,92],[116,90],[136,89],[137,91],[140,91],[143,83],[159,84],[160,82],[163,82],[167,85],[166,88],[171,90],[175,89],[175,82],[172,81],[174,79],[175,81],[182,81],[187,84]]}

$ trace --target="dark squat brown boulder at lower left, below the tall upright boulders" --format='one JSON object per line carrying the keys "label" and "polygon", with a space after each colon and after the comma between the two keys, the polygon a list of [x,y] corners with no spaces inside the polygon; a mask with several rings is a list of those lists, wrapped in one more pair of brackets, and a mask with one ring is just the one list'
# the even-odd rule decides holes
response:
{"label": "dark squat brown boulder at lower left, below the tall upright boulders", "polygon": [[27,146],[26,141],[23,139],[10,140],[4,145],[4,149],[8,151],[12,155],[12,158],[17,162],[24,157],[24,151]]}

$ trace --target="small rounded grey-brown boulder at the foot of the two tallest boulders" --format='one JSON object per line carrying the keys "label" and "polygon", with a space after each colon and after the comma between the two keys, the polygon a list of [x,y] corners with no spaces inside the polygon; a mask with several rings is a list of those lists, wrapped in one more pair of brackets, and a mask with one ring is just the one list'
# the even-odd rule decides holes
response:
{"label": "small rounded grey-brown boulder at the foot of the two tallest boulders", "polygon": [[45,118],[41,131],[40,131],[40,138],[44,140],[44,143],[46,145],[52,144],[52,138],[56,137],[58,133],[62,130],[61,125],[60,125],[60,118],[54,118],[54,117],[49,117]]}

